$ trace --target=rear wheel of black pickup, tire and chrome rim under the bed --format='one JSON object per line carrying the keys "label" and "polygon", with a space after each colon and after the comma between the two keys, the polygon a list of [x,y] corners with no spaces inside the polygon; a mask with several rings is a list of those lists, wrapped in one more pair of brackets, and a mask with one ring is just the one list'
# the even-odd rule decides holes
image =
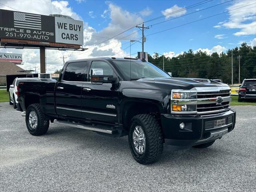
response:
{"label": "rear wheel of black pickup, tire and chrome rim under the bed", "polygon": [[43,135],[48,131],[49,120],[46,119],[38,103],[31,104],[26,110],[26,126],[34,136]]}

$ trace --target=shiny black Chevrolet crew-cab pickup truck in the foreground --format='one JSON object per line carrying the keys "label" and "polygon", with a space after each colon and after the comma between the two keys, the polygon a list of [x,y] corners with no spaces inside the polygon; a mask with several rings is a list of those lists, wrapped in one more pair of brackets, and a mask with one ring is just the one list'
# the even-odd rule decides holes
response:
{"label": "shiny black Chevrolet crew-cab pickup truck in the foreground", "polygon": [[18,110],[32,135],[49,123],[119,137],[134,159],[156,162],[166,150],[205,148],[234,129],[230,88],[208,79],[172,78],[132,58],[68,61],[58,82],[20,82]]}

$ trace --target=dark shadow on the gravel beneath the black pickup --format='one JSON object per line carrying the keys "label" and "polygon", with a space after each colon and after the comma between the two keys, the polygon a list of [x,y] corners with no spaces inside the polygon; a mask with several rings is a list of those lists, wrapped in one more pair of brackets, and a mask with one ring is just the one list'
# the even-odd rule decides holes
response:
{"label": "dark shadow on the gravel beneath the black pickup", "polygon": [[[77,144],[80,150],[90,150],[109,153],[120,161],[123,158],[130,158],[133,160],[128,144],[128,137],[109,137],[97,134],[96,132],[82,130],[79,128],[50,126],[46,137],[54,137],[57,140],[65,140],[70,144]],[[67,143],[67,144],[68,144]],[[214,146],[215,145],[215,146]],[[222,151],[223,150],[223,151]],[[180,151],[164,151],[162,157],[158,162],[148,166],[155,166],[161,164],[193,164],[193,166],[204,164],[209,159],[222,159],[223,153],[227,150],[218,148],[215,143],[209,148],[196,149],[190,148]],[[120,155],[121,154],[121,155]],[[135,162],[133,160],[133,162]]]}

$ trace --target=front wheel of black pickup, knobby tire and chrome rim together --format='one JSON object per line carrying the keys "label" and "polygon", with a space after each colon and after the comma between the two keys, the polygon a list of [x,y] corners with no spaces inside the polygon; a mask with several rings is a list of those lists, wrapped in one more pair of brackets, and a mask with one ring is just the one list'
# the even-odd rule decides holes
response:
{"label": "front wheel of black pickup, knobby tire and chrome rim together", "polygon": [[162,155],[162,129],[152,115],[139,114],[132,118],[128,141],[132,156],[140,164],[152,164]]}

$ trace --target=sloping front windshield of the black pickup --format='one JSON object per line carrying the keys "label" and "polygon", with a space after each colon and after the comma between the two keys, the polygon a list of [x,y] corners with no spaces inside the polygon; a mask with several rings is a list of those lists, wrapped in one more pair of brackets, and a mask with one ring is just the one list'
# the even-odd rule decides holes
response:
{"label": "sloping front windshield of the black pickup", "polygon": [[136,80],[140,78],[157,78],[170,76],[149,62],[140,61],[114,61],[118,69],[124,74],[125,78]]}

